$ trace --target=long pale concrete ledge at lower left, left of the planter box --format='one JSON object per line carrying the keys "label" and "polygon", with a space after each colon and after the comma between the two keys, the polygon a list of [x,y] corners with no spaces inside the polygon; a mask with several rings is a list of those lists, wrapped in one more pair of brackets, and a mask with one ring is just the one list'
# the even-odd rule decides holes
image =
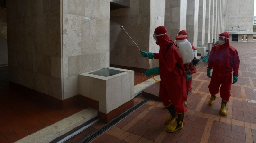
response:
{"label": "long pale concrete ledge at lower left, left of the planter box", "polygon": [[98,110],[87,108],[15,143],[49,143],[96,116],[98,116]]}

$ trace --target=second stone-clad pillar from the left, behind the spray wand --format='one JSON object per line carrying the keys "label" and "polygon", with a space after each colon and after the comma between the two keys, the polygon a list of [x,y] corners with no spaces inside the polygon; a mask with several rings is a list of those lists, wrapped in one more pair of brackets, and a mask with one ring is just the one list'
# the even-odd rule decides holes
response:
{"label": "second stone-clad pillar from the left, behind the spray wand", "polygon": [[[110,64],[148,68],[147,60],[141,57],[137,46],[147,52],[159,51],[152,34],[157,26],[164,25],[164,4],[164,0],[131,0],[129,8],[110,11]],[[159,20],[156,16],[159,16]],[[125,31],[120,29],[120,25],[137,46]],[[151,42],[154,42],[154,45],[151,45]],[[155,62],[157,65],[158,60]]]}

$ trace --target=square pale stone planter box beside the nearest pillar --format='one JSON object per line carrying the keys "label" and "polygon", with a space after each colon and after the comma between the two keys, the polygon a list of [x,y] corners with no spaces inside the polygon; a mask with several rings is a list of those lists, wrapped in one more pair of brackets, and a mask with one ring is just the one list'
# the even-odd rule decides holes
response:
{"label": "square pale stone planter box beside the nearest pillar", "polygon": [[99,101],[99,111],[109,113],[134,98],[134,71],[123,71],[113,76],[98,76],[91,72],[79,75],[79,94]]}

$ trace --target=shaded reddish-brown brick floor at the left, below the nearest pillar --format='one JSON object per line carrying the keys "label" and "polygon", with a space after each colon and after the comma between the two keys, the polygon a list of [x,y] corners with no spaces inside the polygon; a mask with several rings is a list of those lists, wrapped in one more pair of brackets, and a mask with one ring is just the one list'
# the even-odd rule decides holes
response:
{"label": "shaded reddish-brown brick floor at the left, below the nearest pillar", "polygon": [[14,143],[86,109],[81,105],[64,110],[50,108],[37,100],[24,98],[24,94],[9,88],[8,67],[0,67],[0,143]]}

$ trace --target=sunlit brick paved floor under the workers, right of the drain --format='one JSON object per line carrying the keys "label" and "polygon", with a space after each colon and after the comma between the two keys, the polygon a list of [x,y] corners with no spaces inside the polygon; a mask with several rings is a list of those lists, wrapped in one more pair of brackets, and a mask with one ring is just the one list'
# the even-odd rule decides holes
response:
{"label": "sunlit brick paved floor under the workers, right of the drain", "polygon": [[[193,75],[183,129],[167,133],[169,113],[161,101],[151,100],[99,136],[92,143],[253,143],[256,142],[256,42],[231,42],[238,50],[238,82],[232,84],[227,116],[220,115],[221,98],[213,106],[206,76],[207,63]],[[138,99],[137,99],[138,100]],[[139,100],[138,100],[139,101]]]}

